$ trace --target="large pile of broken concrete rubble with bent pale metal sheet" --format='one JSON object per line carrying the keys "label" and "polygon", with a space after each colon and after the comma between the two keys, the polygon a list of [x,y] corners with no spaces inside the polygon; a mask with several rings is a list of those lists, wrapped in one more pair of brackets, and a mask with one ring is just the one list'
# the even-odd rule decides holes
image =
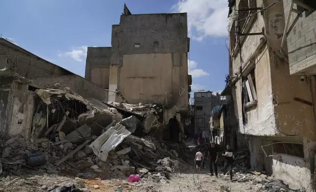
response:
{"label": "large pile of broken concrete rubble with bent pale metal sheet", "polygon": [[3,176],[36,171],[108,179],[135,174],[167,182],[171,172],[187,168],[184,145],[146,135],[159,126],[161,106],[101,102],[60,85],[35,93],[40,99],[30,139],[12,136],[0,141]]}

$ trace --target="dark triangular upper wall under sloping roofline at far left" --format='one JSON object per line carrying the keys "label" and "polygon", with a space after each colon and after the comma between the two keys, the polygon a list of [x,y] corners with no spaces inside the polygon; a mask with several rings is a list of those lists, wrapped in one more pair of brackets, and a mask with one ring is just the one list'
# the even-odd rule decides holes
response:
{"label": "dark triangular upper wall under sloping roofline at far left", "polygon": [[18,73],[22,76],[67,75],[74,74],[53,63],[50,63],[23,48],[4,39],[0,39],[0,69],[10,69],[8,56],[12,61],[18,58]]}

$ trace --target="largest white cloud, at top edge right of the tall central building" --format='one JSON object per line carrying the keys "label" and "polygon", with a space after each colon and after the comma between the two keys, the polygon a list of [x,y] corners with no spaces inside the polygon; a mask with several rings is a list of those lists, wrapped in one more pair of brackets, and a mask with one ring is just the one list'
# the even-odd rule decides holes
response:
{"label": "largest white cloud, at top edge right of the tall central building", "polygon": [[[173,9],[187,13],[189,34],[197,41],[206,36],[228,35],[227,0],[180,0]],[[192,33],[193,28],[197,34]]]}

